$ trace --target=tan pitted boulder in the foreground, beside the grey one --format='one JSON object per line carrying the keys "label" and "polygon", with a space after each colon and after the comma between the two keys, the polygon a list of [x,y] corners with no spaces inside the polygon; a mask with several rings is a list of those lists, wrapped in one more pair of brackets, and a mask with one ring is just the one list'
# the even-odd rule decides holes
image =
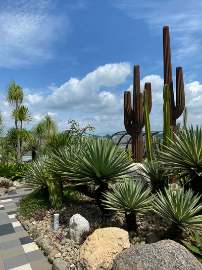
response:
{"label": "tan pitted boulder in the foreground, beside the grey one", "polygon": [[111,270],[116,255],[129,247],[126,230],[116,227],[96,229],[78,251],[76,270]]}

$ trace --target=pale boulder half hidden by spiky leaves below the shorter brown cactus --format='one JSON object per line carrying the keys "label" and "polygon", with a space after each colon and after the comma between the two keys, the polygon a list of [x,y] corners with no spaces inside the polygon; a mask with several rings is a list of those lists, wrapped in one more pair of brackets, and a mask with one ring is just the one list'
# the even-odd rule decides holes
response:
{"label": "pale boulder half hidden by spiky leaves below the shorter brown cactus", "polygon": [[[140,179],[143,182],[143,187],[148,187],[150,185],[150,178],[145,173],[140,171],[140,169],[138,167],[144,167],[144,165],[141,163],[134,163],[134,166],[129,168],[126,171],[126,174],[121,176],[121,178],[122,177],[133,177],[133,180]],[[133,170],[135,170],[135,171],[133,172]],[[118,183],[115,183],[114,185],[118,187]]]}

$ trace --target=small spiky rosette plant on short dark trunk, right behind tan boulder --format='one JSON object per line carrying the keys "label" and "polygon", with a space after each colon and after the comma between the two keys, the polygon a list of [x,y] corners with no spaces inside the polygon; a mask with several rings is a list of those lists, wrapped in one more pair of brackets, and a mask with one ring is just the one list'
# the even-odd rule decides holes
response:
{"label": "small spiky rosette plant on short dark trunk, right behind tan boulder", "polygon": [[102,200],[103,205],[114,211],[125,214],[128,230],[136,230],[136,213],[148,212],[150,199],[148,197],[151,188],[143,190],[143,184],[140,180],[133,181],[132,178],[118,181],[118,187],[112,185],[114,193],[107,191]]}

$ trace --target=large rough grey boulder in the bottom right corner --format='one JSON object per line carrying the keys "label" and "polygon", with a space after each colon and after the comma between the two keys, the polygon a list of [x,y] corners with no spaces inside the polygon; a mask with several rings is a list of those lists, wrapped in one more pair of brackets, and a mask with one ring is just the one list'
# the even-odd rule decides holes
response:
{"label": "large rough grey boulder in the bottom right corner", "polygon": [[112,270],[202,270],[202,264],[182,245],[163,240],[132,246],[114,260]]}

